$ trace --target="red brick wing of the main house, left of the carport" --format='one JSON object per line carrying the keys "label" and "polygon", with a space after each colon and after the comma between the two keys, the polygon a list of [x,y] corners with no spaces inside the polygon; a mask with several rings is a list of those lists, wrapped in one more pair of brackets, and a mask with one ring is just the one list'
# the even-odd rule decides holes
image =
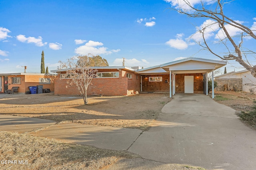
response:
{"label": "red brick wing of the main house, left of the carport", "polygon": [[[140,77],[136,70],[126,66],[92,67],[97,69],[97,76],[92,79],[87,89],[87,95],[122,96],[140,91]],[[52,70],[58,73],[55,80],[54,94],[80,95],[77,87],[67,83],[66,70]],[[68,86],[68,88],[67,88]]]}

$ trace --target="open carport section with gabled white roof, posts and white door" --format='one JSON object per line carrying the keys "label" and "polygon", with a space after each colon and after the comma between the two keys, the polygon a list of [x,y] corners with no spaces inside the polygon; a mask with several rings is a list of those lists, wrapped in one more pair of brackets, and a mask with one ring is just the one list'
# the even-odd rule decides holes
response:
{"label": "open carport section with gabled white roof, posts and white door", "polygon": [[176,92],[208,95],[208,73],[212,72],[212,98],[214,98],[213,72],[226,63],[226,61],[190,57],[138,70],[141,78],[140,91],[170,92],[170,97]]}

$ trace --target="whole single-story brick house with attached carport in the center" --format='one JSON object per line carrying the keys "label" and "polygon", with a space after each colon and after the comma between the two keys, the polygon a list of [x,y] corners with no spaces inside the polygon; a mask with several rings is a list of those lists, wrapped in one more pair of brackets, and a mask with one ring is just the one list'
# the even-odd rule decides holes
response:
{"label": "whole single-story brick house with attached carport in the center", "polygon": [[[226,61],[186,58],[149,68],[134,70],[126,66],[92,67],[97,77],[88,86],[88,95],[122,96],[138,92],[171,92],[208,94],[208,72],[226,65]],[[66,70],[51,70],[58,73],[55,94],[75,94],[76,86],[68,87]],[[213,95],[214,96],[214,95]]]}

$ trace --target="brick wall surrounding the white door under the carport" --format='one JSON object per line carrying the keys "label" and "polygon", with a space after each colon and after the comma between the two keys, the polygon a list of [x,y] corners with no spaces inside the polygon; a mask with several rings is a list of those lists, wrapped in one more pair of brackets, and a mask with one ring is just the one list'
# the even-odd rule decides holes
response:
{"label": "brick wall surrounding the white door under the carport", "polygon": [[194,93],[203,93],[204,92],[203,75],[202,75],[202,73],[196,73],[196,74],[176,74],[176,82],[175,82],[176,93],[184,93],[185,92],[184,76],[194,76]]}

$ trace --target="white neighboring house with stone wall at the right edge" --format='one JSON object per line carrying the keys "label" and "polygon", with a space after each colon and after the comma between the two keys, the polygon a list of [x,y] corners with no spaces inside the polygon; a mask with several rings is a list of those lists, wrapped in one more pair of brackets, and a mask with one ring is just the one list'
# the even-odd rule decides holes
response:
{"label": "white neighboring house with stone wall at the right edge", "polygon": [[248,70],[228,72],[215,77],[216,90],[225,90],[224,84],[230,84],[234,91],[255,92],[256,78]]}

